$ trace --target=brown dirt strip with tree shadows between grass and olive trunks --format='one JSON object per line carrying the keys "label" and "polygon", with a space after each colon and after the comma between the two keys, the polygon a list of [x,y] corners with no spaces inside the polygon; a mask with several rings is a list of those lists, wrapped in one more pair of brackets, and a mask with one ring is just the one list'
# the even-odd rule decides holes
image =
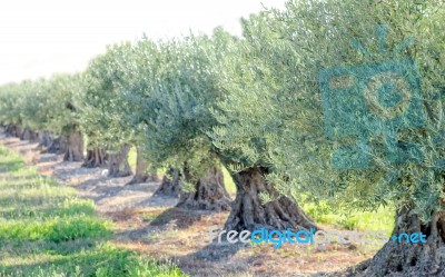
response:
{"label": "brown dirt strip with tree shadows between grass and olive trunks", "polygon": [[[131,177],[108,178],[103,169],[63,162],[62,156],[40,154],[37,145],[0,136],[0,142],[80,197],[92,199],[97,212],[116,225],[116,244],[174,260],[191,276],[327,276],[372,257],[369,246],[209,244],[209,227],[222,227],[228,212],[175,208],[177,199],[156,197],[159,182],[126,186]],[[332,228],[330,228],[332,229]]]}

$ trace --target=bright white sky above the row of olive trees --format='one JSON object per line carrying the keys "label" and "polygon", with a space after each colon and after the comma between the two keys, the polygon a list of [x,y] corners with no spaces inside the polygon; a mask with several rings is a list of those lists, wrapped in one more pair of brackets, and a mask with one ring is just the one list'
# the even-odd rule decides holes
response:
{"label": "bright white sky above the row of olive trees", "polygon": [[285,0],[10,0],[0,2],[0,83],[83,70],[106,44],[145,32],[161,39],[239,33],[239,18]]}

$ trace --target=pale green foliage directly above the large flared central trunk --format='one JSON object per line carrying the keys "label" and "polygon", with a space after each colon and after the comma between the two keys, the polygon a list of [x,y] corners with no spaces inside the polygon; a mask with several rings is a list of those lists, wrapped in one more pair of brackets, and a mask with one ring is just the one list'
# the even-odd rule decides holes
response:
{"label": "pale green foliage directly above the large flared central trunk", "polygon": [[244,20],[245,40],[225,57],[224,70],[219,72],[219,85],[224,98],[212,109],[218,125],[209,136],[225,156],[235,164],[233,170],[240,171],[254,165],[270,166],[267,161],[266,141],[270,133],[280,130],[276,110],[268,96],[278,95],[277,83],[270,78],[280,68],[267,68],[261,59],[269,59],[266,36],[271,36],[265,14]]}

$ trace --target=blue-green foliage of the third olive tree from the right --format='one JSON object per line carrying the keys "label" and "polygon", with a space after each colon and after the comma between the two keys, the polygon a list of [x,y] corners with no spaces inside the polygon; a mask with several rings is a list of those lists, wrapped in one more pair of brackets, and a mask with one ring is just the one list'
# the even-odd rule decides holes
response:
{"label": "blue-green foliage of the third olive tree from the right", "polygon": [[140,99],[144,109],[137,113],[146,122],[146,150],[158,164],[182,167],[187,162],[197,176],[215,164],[217,157],[206,136],[216,123],[209,108],[221,97],[216,72],[234,42],[216,29],[212,37],[189,36],[160,43],[152,91]]}

